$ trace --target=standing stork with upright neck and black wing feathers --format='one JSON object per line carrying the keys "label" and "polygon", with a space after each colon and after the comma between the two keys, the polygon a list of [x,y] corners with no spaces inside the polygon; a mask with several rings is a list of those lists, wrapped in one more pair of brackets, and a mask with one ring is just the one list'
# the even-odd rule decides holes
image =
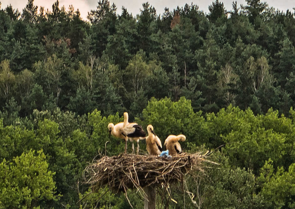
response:
{"label": "standing stork with upright neck and black wing feathers", "polygon": [[124,112],[124,124],[123,124],[123,132],[122,134],[125,135],[125,153],[127,150],[127,141],[128,138],[132,142],[132,153],[134,153],[134,144],[133,142],[137,142],[137,154],[139,153],[139,140],[145,138],[145,131],[142,129],[140,125],[137,123],[129,123],[128,122],[128,113]]}

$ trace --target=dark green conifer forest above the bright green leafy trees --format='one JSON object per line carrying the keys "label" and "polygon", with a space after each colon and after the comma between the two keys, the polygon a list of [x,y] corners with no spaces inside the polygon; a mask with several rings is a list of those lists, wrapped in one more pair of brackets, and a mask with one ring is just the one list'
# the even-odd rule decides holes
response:
{"label": "dark green conifer forest above the bright green leafy trees", "polygon": [[[255,113],[273,107],[287,114],[293,105],[295,22],[289,10],[275,12],[257,0],[241,8],[233,2],[228,17],[228,8],[217,0],[208,15],[194,4],[174,12],[166,8],[162,16],[148,2],[136,18],[125,7],[121,16],[116,10],[109,1],[99,1],[89,12],[90,27],[78,10],[66,11],[58,1],[52,12],[41,7],[36,13],[30,0],[21,17],[12,6],[2,9],[0,61],[9,60],[15,81],[4,79],[8,88],[3,87],[0,107],[12,96],[21,106],[21,117],[43,105],[79,114],[102,106],[105,116],[123,109],[140,115],[142,107],[135,107],[140,102],[130,100],[140,98],[145,104],[151,97],[166,96],[174,101],[185,96],[195,111],[203,112],[218,112],[231,103],[255,108]],[[98,77],[105,81],[102,88]],[[137,97],[132,91],[141,87]],[[105,93],[114,100],[99,102]],[[40,102],[34,98],[38,95]],[[83,100],[89,103],[85,111]]]}

